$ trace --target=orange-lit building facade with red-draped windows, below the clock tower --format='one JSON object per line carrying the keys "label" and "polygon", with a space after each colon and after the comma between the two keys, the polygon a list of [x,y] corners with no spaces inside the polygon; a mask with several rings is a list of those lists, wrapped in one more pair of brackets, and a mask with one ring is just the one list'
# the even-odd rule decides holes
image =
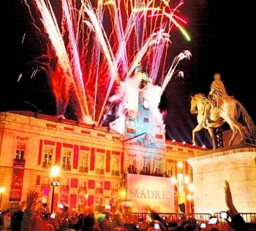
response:
{"label": "orange-lit building facade with red-draped windows, below the clock tower", "polygon": [[160,142],[149,133],[126,140],[112,129],[29,111],[1,112],[0,134],[0,184],[6,189],[1,208],[17,207],[29,190],[38,191],[50,207],[53,164],[60,167],[53,211],[57,203],[76,211],[87,206],[118,208],[118,191],[126,186],[127,173],[154,175],[156,180],[176,176],[181,161],[184,174],[192,178],[187,159],[202,152],[177,142]]}

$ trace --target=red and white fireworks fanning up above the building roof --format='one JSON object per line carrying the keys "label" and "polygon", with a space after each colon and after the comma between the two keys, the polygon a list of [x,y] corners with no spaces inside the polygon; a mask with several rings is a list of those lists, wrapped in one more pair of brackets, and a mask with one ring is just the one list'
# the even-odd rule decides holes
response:
{"label": "red and white fireworks fanning up above the building roof", "polygon": [[[138,64],[146,63],[154,84],[157,84],[157,77],[161,77],[165,90],[178,62],[182,60],[183,56],[174,60],[167,77],[163,76],[165,69],[160,66],[167,62],[170,29],[173,25],[182,29],[178,23],[181,19],[176,17],[177,20],[173,20],[176,16],[174,12],[183,4],[182,0],[175,9],[170,9],[168,1],[164,0],[136,0],[135,3],[126,0],[98,1],[94,6],[91,1],[83,0],[79,9],[75,7],[75,0],[60,0],[63,10],[61,31],[50,0],[35,1],[56,54],[59,78],[67,79],[72,86],[81,113],[78,119],[83,122],[86,122],[87,116],[93,118],[97,125],[102,121],[113,86],[122,85],[121,81],[132,77]],[[170,12],[167,13],[166,9]],[[150,12],[154,17],[149,19]],[[167,23],[165,18],[169,19]],[[105,20],[110,22],[105,23]],[[53,76],[58,78],[58,73]],[[67,89],[65,93],[61,94],[61,86],[57,86],[59,92],[54,93],[67,95],[71,90],[69,85],[64,87]],[[65,111],[66,104],[63,105],[62,111]],[[111,106],[113,102],[109,109]]]}

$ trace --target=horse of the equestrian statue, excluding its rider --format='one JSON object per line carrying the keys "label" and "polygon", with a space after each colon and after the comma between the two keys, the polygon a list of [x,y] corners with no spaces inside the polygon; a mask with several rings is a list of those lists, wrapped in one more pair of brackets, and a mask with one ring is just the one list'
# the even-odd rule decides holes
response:
{"label": "horse of the equestrian statue, excluding its rider", "polygon": [[[211,103],[208,98],[203,94],[196,94],[191,96],[191,108],[190,112],[192,114],[197,114],[197,126],[192,130],[192,142],[197,145],[195,141],[195,133],[206,128],[211,137],[213,144],[213,149],[217,148],[214,140],[214,128],[219,128],[227,122],[233,134],[229,141],[229,146],[233,144],[233,140],[239,133],[241,136],[240,141],[244,142],[245,137],[252,137],[256,134],[256,126],[252,122],[252,118],[249,117],[244,106],[241,105],[233,96],[222,97],[221,103],[218,106],[211,104],[210,113],[206,119],[206,127],[203,127],[204,111],[207,103]],[[239,118],[242,116],[243,124],[238,122]]]}

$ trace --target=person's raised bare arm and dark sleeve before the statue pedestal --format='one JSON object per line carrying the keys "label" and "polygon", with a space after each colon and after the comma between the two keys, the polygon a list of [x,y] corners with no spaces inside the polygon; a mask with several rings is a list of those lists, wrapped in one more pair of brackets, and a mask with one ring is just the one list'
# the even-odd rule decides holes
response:
{"label": "person's raised bare arm and dark sleeve before the statue pedestal", "polygon": [[[235,205],[233,204],[233,198],[230,190],[230,184],[225,181],[225,202],[227,205],[227,213],[231,218],[231,224],[236,231],[249,230],[249,224],[246,224],[243,217],[238,213]],[[225,219],[227,222],[227,219]]]}

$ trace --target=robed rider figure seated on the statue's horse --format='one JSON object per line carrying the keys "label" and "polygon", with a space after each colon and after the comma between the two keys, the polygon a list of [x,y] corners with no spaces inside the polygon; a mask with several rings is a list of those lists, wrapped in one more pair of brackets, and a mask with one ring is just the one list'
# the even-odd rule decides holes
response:
{"label": "robed rider figure seated on the statue's horse", "polygon": [[206,120],[210,113],[211,106],[221,106],[222,97],[227,96],[227,92],[220,74],[214,74],[214,81],[211,83],[211,91],[208,94],[208,103],[206,104],[202,126],[206,127]]}

